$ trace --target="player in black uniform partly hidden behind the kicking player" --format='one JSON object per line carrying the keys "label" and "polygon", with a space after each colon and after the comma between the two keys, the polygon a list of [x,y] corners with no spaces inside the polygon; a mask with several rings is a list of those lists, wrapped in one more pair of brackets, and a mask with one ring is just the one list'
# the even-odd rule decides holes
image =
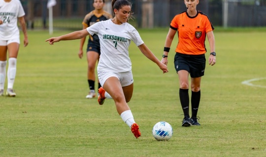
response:
{"label": "player in black uniform partly hidden behind the kicking player", "polygon": [[[105,21],[112,18],[112,15],[103,10],[104,0],[94,0],[93,7],[95,8],[89,14],[87,14],[82,22],[83,29],[88,26],[92,26],[93,24],[99,21]],[[78,56],[79,58],[83,57],[83,45],[86,40],[86,37],[81,38],[80,47]],[[97,60],[99,60],[100,56],[100,41],[97,34],[89,35],[88,46],[87,46],[87,62],[88,62],[88,83],[90,92],[86,96],[86,98],[94,98],[95,94],[95,66]],[[98,81],[99,82],[99,81]],[[101,87],[100,82],[98,83],[98,89]]]}

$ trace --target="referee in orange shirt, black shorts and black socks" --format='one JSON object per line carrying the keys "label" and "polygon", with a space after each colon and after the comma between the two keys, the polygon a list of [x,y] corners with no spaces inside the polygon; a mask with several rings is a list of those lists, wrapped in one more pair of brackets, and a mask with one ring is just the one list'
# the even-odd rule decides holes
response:
{"label": "referee in orange shirt, black shorts and black socks", "polygon": [[[174,67],[179,77],[179,98],[184,112],[182,126],[199,126],[197,113],[200,101],[200,81],[205,71],[205,38],[208,37],[210,45],[209,65],[216,63],[214,27],[207,15],[196,9],[199,0],[184,0],[187,10],[176,15],[166,36],[164,55],[161,60],[167,65],[167,56],[174,35],[178,30],[178,44],[175,49]],[[189,74],[191,76],[191,109],[189,115]]]}

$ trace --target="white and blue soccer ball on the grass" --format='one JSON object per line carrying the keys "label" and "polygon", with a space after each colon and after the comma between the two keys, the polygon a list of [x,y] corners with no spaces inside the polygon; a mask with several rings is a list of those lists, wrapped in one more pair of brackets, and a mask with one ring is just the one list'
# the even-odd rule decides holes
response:
{"label": "white and blue soccer ball on the grass", "polygon": [[157,141],[168,141],[173,135],[172,126],[167,122],[158,122],[152,129],[152,135]]}

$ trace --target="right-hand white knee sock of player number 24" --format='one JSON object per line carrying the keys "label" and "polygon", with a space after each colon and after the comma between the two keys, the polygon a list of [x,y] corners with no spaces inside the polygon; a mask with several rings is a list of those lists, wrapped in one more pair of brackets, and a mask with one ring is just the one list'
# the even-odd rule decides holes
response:
{"label": "right-hand white knee sock of player number 24", "polygon": [[17,71],[17,58],[8,59],[8,69],[7,69],[7,88],[13,89],[15,77]]}

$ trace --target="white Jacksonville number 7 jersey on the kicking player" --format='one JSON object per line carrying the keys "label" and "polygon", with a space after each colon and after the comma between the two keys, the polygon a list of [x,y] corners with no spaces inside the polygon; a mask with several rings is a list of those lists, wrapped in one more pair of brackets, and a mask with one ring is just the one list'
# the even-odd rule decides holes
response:
{"label": "white Jacksonville number 7 jersey on the kicking player", "polygon": [[143,44],[137,30],[129,23],[116,25],[112,19],[100,21],[87,28],[100,39],[100,61],[97,70],[103,72],[127,72],[132,69],[129,57],[131,40],[139,46]]}

